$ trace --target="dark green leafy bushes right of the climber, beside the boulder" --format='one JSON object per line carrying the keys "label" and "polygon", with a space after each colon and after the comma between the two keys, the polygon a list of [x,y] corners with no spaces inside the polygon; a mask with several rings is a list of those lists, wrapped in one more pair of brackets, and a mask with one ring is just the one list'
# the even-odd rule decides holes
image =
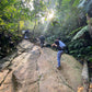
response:
{"label": "dark green leafy bushes right of the climber, beside the boulder", "polygon": [[89,59],[92,55],[92,44],[88,39],[76,39],[68,45],[69,53],[77,58]]}

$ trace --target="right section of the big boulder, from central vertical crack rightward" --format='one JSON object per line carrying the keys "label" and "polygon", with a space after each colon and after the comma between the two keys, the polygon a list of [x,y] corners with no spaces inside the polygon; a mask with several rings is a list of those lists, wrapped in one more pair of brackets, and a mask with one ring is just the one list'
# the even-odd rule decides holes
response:
{"label": "right section of the big boulder, from central vertical crack rightward", "polygon": [[[56,91],[51,92],[58,92],[58,83],[60,83],[60,92],[72,92],[72,90],[76,92],[78,85],[81,83],[82,66],[73,57],[65,54],[61,58],[61,70],[57,71],[56,57],[57,54],[55,51],[46,48],[43,50],[41,58],[38,58],[39,73],[43,74],[41,83],[42,81],[43,83],[46,83],[45,85],[42,83],[43,87],[41,85],[41,88],[45,90],[50,84],[51,87],[55,87],[57,83]],[[47,84],[47,82],[49,82],[49,84]],[[54,90],[54,88],[51,88],[51,90]],[[47,92],[50,92],[50,90],[48,89]]]}

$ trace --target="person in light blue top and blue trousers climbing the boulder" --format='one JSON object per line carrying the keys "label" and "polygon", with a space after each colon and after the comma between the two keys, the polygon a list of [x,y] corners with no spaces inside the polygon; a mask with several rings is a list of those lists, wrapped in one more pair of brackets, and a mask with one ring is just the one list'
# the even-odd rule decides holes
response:
{"label": "person in light blue top and blue trousers climbing the boulder", "polygon": [[58,62],[57,69],[60,69],[60,58],[61,58],[61,55],[64,54],[66,45],[60,41],[60,38],[57,38],[51,46],[56,47],[56,49],[58,49],[58,53],[57,53],[57,62]]}

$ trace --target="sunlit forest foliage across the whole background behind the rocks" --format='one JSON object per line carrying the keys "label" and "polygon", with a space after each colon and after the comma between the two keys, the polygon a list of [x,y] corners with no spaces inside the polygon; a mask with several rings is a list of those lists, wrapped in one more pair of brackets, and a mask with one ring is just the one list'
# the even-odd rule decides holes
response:
{"label": "sunlit forest foliage across the whole background behind the rocks", "polygon": [[[30,30],[31,38],[41,34],[46,36],[46,42],[54,43],[57,37],[68,45],[69,51],[76,57],[89,58],[92,55],[91,41],[87,38],[76,39],[81,32],[87,32],[83,11],[78,9],[80,0],[1,0],[0,1],[0,43],[1,53],[8,54],[10,48],[7,41],[11,34],[11,41],[15,45],[22,38],[21,31]],[[31,5],[33,4],[33,5]],[[54,18],[48,20],[48,13],[54,11]],[[41,20],[44,18],[44,22]],[[85,26],[85,27],[83,27]],[[80,34],[77,32],[80,32]],[[76,35],[77,34],[77,35]],[[76,36],[77,37],[76,37]],[[72,37],[76,37],[71,42]],[[10,50],[11,51],[11,50]],[[0,54],[1,54],[0,53]],[[89,58],[89,60],[92,60]]]}

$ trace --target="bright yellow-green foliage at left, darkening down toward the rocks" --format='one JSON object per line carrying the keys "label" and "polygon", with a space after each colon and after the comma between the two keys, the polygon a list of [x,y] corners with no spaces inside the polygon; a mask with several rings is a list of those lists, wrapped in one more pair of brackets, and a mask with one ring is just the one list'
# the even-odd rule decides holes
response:
{"label": "bright yellow-green foliage at left, darkening down toward the rocks", "polygon": [[[27,20],[34,22],[36,14],[45,10],[43,1],[37,2],[34,0],[34,8],[31,10],[32,0],[0,0],[0,55],[10,53],[12,48],[10,43],[15,45],[22,37],[21,31],[27,28],[24,22]],[[10,35],[11,39],[8,42],[7,37],[10,38]],[[3,41],[7,41],[7,45]]]}

